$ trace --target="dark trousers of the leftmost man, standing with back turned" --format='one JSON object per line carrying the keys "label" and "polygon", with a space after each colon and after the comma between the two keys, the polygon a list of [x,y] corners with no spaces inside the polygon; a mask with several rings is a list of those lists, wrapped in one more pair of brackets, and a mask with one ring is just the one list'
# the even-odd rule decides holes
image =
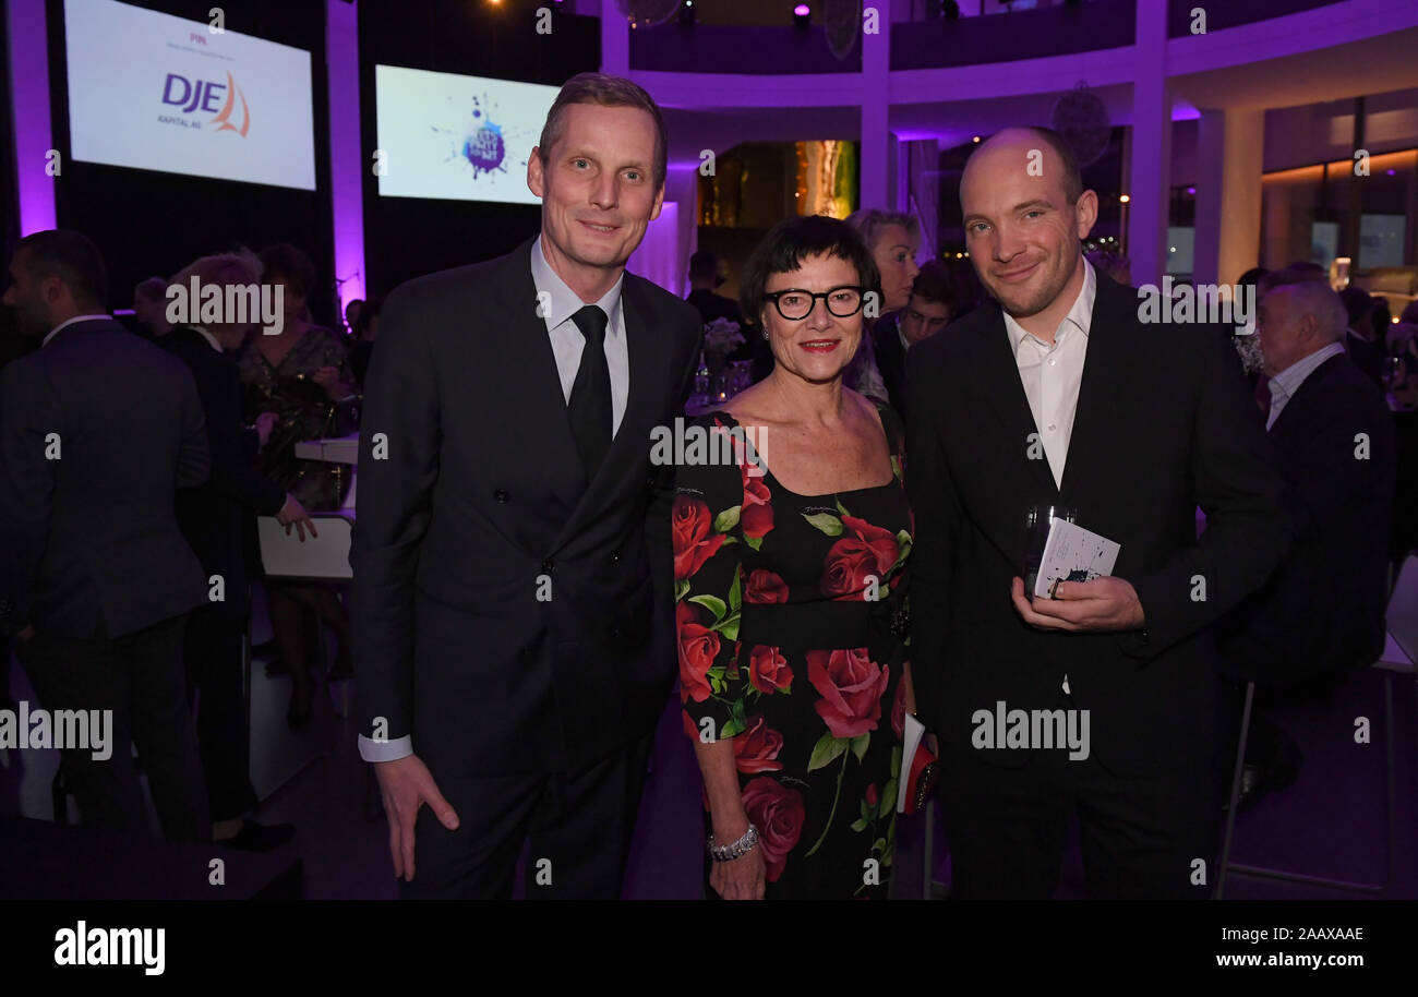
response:
{"label": "dark trousers of the leftmost man, standing with back turned", "polygon": [[182,645],[187,614],[122,637],[35,633],[17,642],[40,705],[112,711],[111,754],[69,749],[61,766],[84,823],[147,834],[132,747],[143,760],[164,838],[210,841],[207,789],[184,695]]}

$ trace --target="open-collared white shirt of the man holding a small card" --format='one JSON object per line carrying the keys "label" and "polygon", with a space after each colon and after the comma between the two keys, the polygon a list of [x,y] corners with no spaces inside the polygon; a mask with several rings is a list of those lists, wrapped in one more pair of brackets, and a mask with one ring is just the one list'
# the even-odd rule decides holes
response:
{"label": "open-collared white shirt of the man holding a small card", "polygon": [[1014,362],[1020,367],[1024,394],[1034,413],[1034,425],[1049,459],[1054,484],[1064,485],[1064,465],[1068,442],[1073,435],[1073,414],[1078,411],[1078,389],[1083,383],[1083,357],[1088,353],[1088,330],[1093,323],[1093,298],[1098,277],[1093,264],[1083,261],[1083,289],[1073,299],[1059,328],[1054,330],[1054,345],[1025,332],[1008,312],[1004,328],[1010,333]]}

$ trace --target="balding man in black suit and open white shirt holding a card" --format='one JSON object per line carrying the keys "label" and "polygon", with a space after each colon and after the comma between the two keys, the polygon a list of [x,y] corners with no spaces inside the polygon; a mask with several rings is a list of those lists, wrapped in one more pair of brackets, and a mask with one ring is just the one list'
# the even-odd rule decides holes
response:
{"label": "balding man in black suit and open white shirt holding a card", "polygon": [[[912,350],[906,474],[912,664],[942,742],[953,891],[1052,895],[1076,813],[1092,895],[1204,896],[1210,627],[1285,550],[1280,477],[1232,347],[1143,322],[1139,292],[1083,260],[1098,197],[1056,133],[983,143],[960,200],[995,303]],[[1113,574],[1027,597],[1037,506],[1119,543]]]}

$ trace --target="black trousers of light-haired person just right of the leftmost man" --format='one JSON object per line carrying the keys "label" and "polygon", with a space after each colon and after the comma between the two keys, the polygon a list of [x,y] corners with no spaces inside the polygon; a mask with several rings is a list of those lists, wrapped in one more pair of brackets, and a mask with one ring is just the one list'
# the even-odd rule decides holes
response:
{"label": "black trousers of light-haired person just right of the leftmost man", "polygon": [[187,698],[197,692],[197,747],[211,820],[240,817],[257,806],[251,786],[251,725],[241,674],[242,625],[216,604],[187,617],[183,657]]}

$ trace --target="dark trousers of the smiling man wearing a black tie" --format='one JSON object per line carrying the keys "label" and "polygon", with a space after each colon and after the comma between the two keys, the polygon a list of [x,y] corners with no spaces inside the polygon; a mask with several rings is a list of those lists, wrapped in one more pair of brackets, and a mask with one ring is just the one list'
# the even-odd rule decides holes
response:
{"label": "dark trousers of the smiling man wearing a black tie", "polygon": [[508,899],[530,838],[527,899],[620,899],[652,735],[573,773],[440,777],[458,813],[450,831],[418,810],[414,881],[403,899]]}

